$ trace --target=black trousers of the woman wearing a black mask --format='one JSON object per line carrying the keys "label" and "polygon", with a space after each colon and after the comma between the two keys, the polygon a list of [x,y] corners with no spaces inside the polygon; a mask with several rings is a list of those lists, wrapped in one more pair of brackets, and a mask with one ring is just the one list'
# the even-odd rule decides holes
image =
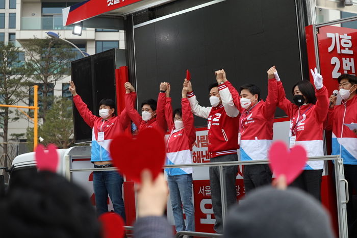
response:
{"label": "black trousers of the woman wearing a black mask", "polygon": [[322,171],[322,169],[303,170],[290,186],[299,188],[321,201]]}

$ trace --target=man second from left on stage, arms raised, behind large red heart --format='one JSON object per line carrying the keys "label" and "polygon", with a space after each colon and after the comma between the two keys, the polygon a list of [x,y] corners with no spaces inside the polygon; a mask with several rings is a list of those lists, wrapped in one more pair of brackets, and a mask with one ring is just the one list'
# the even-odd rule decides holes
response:
{"label": "man second from left on stage, arms raised, behind large red heart", "polygon": [[127,115],[138,127],[138,131],[140,132],[140,130],[147,127],[154,127],[163,133],[166,133],[167,124],[164,115],[166,85],[161,83],[158,101],[148,99],[141,103],[141,116],[138,111],[135,110],[134,101],[131,96],[133,93],[136,96],[134,87],[129,82],[125,83],[124,87],[126,89],[125,109]]}

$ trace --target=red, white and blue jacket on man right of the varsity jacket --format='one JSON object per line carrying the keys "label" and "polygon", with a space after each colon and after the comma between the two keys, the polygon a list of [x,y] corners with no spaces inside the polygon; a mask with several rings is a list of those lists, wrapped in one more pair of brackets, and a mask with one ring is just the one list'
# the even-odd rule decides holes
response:
{"label": "red, white and blue jacket on man right of the varsity jacket", "polygon": [[240,152],[242,161],[267,160],[268,150],[273,142],[274,113],[277,104],[277,85],[275,78],[268,80],[266,101],[244,109],[240,104],[240,95],[233,85],[226,81],[234,103],[241,113],[239,119]]}

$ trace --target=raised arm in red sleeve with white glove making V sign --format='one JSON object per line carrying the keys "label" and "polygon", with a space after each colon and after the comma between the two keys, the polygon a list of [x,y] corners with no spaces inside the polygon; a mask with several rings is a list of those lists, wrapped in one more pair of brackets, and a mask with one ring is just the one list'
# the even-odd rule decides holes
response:
{"label": "raised arm in red sleeve with white glove making V sign", "polygon": [[311,74],[314,78],[315,84],[315,95],[316,95],[316,107],[315,107],[315,116],[319,122],[324,122],[328,113],[329,108],[329,99],[328,99],[328,92],[325,86],[322,83],[322,75],[311,69]]}

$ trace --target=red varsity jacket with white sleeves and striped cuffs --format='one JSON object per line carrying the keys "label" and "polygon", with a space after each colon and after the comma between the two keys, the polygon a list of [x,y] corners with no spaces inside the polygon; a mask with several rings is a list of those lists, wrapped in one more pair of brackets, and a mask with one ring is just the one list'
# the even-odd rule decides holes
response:
{"label": "red varsity jacket with white sleeves and striped cuffs", "polygon": [[218,86],[222,104],[217,107],[201,107],[193,92],[187,94],[192,113],[208,119],[208,152],[210,157],[237,154],[238,114],[230,90],[225,84]]}

